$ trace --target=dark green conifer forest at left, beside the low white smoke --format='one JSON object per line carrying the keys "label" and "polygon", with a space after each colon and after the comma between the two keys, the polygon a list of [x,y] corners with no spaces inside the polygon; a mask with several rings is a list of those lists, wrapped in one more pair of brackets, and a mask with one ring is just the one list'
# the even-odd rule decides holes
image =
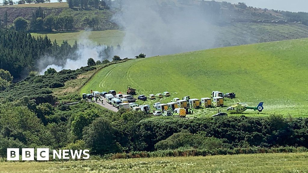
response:
{"label": "dark green conifer forest at left, beside the low white smoke", "polygon": [[25,32],[0,30],[0,68],[8,70],[15,80],[36,69],[37,60],[43,55],[56,58],[67,56],[77,49],[63,42],[60,46],[47,36],[34,38]]}

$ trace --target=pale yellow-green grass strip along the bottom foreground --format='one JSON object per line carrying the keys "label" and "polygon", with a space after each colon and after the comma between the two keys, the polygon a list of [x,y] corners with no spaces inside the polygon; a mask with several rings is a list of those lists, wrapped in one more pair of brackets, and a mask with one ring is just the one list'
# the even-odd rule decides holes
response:
{"label": "pale yellow-green grass strip along the bottom foreground", "polygon": [[143,158],[69,162],[1,162],[0,172],[284,172],[306,173],[307,153]]}

